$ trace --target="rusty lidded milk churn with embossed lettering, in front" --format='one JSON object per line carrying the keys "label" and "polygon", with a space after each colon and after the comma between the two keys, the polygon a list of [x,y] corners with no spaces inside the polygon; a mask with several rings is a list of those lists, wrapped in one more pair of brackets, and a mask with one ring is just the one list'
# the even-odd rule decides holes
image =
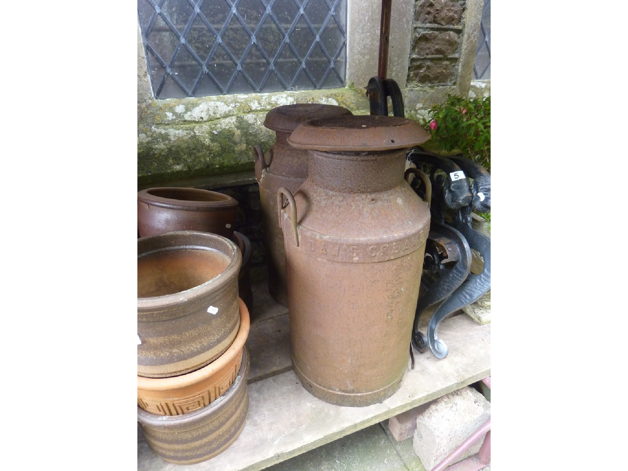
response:
{"label": "rusty lidded milk churn with embossed lettering, in front", "polygon": [[430,210],[403,178],[428,133],[393,116],[315,119],[291,146],[308,178],[279,188],[292,360],[301,384],[341,406],[392,396],[409,363]]}

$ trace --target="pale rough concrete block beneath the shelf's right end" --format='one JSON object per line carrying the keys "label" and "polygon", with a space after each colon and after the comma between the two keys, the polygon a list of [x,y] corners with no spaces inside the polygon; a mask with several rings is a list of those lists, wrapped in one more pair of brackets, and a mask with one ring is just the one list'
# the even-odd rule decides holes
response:
{"label": "pale rough concrete block beneath the shelf's right end", "polygon": [[[440,463],[449,453],[490,417],[490,403],[472,387],[463,387],[436,399],[416,419],[414,452],[427,471]],[[475,442],[458,461],[480,450],[484,438]]]}

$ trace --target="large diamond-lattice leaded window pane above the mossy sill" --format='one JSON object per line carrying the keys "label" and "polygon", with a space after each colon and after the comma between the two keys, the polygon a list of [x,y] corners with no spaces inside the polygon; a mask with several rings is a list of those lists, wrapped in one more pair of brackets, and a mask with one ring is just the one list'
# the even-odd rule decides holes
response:
{"label": "large diamond-lattice leaded window pane above the mossy sill", "polygon": [[347,0],[138,0],[157,98],[344,87]]}

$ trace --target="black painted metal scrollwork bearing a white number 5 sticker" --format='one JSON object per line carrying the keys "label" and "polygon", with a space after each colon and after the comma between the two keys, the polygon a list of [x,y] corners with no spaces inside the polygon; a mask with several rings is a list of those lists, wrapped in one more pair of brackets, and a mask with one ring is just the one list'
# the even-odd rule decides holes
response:
{"label": "black painted metal scrollwork bearing a white number 5 sticker", "polygon": [[[490,210],[490,174],[462,156],[444,157],[415,148],[408,158],[417,166],[431,167],[432,188],[431,226],[421,283],[426,289],[416,305],[411,343],[419,352],[429,347],[436,358],[443,359],[449,350],[438,337],[440,322],[490,290],[490,239],[471,225],[472,210]],[[413,188],[421,195],[420,182]],[[482,273],[470,273],[472,249],[484,261]],[[439,302],[423,334],[418,330],[420,317]]]}

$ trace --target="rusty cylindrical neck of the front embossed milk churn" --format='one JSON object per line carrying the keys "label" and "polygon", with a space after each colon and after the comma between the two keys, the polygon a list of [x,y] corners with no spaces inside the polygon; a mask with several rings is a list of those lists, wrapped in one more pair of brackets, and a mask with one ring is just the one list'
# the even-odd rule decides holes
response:
{"label": "rusty cylindrical neck of the front embossed milk churn", "polygon": [[384,192],[403,182],[406,151],[308,151],[308,181],[343,193]]}

